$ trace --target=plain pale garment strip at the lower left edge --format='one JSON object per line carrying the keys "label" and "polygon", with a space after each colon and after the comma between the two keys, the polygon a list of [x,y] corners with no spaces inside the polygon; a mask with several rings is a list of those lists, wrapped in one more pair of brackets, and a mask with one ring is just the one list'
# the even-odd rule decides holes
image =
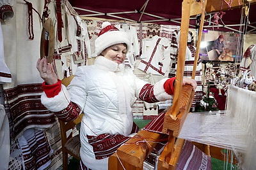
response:
{"label": "plain pale garment strip at the lower left edge", "polygon": [[3,104],[0,104],[0,165],[1,169],[8,169],[10,155],[10,130]]}

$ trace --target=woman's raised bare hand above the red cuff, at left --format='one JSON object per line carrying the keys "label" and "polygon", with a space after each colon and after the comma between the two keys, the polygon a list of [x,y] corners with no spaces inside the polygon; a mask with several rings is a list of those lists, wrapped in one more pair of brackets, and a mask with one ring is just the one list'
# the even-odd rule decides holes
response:
{"label": "woman's raised bare hand above the red cuff, at left", "polygon": [[47,85],[53,85],[58,82],[57,75],[54,73],[52,65],[47,63],[47,59],[38,59],[36,62],[36,69],[38,69],[41,78]]}

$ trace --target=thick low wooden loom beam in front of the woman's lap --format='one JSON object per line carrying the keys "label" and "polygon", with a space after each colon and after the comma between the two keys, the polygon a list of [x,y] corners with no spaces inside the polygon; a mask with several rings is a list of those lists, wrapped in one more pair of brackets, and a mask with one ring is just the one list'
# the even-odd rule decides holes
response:
{"label": "thick low wooden loom beam in front of the woman's lap", "polygon": [[[109,169],[123,169],[122,165],[125,169],[130,169],[131,167],[143,169],[144,160],[157,145],[157,142],[154,141],[163,139],[163,137],[164,134],[141,130],[134,137],[129,139],[125,145],[120,146],[115,155],[111,155],[109,158],[109,166],[111,167],[109,167]],[[147,142],[143,142],[144,139],[146,139]],[[118,158],[120,160],[116,160]],[[120,161],[122,163],[124,162],[124,164],[121,165]]]}

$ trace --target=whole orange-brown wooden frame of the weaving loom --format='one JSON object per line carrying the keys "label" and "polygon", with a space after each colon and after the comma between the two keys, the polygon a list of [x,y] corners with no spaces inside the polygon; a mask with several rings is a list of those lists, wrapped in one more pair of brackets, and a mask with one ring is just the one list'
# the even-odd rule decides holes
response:
{"label": "whole orange-brown wooden frame of the weaving loom", "polygon": [[[230,6],[235,8],[248,2],[256,3],[256,0],[233,0]],[[176,169],[176,163],[179,160],[180,152],[182,150],[182,146],[184,145],[184,139],[179,139],[177,136],[179,136],[182,125],[189,113],[189,109],[195,94],[193,88],[190,85],[182,86],[186,45],[188,41],[189,17],[195,16],[199,13],[202,14],[192,74],[192,78],[195,78],[196,63],[199,57],[199,48],[202,38],[202,29],[204,26],[205,11],[210,13],[228,9],[230,9],[230,7],[228,4],[223,3],[223,0],[184,0],[182,2],[180,43],[173,105],[166,112],[163,125],[163,132],[168,133],[169,137],[168,143],[164,147],[164,150],[159,157],[157,165],[158,169]],[[109,169],[143,169],[144,160],[148,157],[149,153],[152,152],[153,148],[157,144],[152,142],[152,139],[159,141],[163,138],[163,136],[163,134],[141,130],[138,132],[138,134],[136,134],[136,136],[134,136],[134,138],[131,138],[126,142],[127,145],[121,146],[118,148],[116,153],[109,157]],[[147,143],[140,142],[139,145],[136,145],[136,142],[147,138],[150,138],[150,141],[147,141]],[[201,145],[198,143],[194,144],[207,155],[211,155],[211,157],[223,160],[223,155],[221,155],[221,148],[209,145]]]}

